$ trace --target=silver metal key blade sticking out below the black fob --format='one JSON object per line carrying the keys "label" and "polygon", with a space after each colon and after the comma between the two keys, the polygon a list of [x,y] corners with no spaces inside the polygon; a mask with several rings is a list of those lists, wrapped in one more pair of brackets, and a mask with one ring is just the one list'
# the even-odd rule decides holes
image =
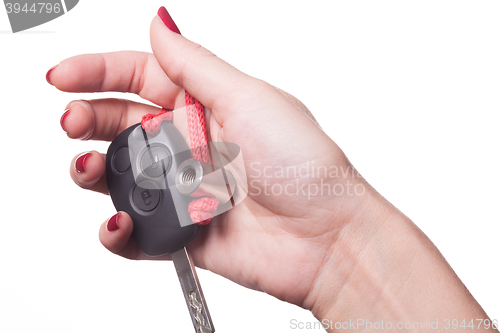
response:
{"label": "silver metal key blade sticking out below the black fob", "polygon": [[189,314],[193,320],[194,329],[200,333],[215,332],[212,318],[208,312],[205,297],[201,291],[200,282],[194,265],[189,257],[186,248],[174,252],[170,255],[174,262],[177,276],[181,283],[182,292],[189,309]]}

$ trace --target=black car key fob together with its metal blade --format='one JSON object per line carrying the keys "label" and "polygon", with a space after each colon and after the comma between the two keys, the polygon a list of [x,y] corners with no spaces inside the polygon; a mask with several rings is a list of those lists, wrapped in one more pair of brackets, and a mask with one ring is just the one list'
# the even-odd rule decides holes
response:
{"label": "black car key fob together with its metal blade", "polygon": [[[131,216],[132,237],[144,253],[171,255],[195,330],[208,333],[215,329],[185,247],[200,226],[191,222],[188,213],[192,198],[175,187],[179,167],[190,159],[189,147],[170,122],[164,121],[154,137],[136,124],[109,146],[106,179],[116,209]],[[191,224],[181,223],[188,220]]]}

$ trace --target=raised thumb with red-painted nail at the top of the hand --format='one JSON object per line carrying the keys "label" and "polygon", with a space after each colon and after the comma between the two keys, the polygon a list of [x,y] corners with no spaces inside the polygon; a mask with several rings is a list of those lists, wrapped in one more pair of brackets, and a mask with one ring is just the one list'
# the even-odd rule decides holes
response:
{"label": "raised thumb with red-painted nail at the top of the hand", "polygon": [[211,109],[218,121],[228,116],[219,104],[241,99],[249,84],[259,82],[181,36],[164,7],[151,22],[150,37],[153,53],[170,80]]}

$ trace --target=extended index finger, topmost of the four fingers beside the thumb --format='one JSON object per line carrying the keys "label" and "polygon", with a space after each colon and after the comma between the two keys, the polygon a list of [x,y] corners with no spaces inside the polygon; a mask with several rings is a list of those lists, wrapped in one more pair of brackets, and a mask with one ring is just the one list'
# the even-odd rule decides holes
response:
{"label": "extended index finger, topmost of the four fingers beside the thumb", "polygon": [[180,89],[151,53],[122,51],[84,54],[63,60],[47,72],[47,81],[66,92],[128,92],[174,108]]}

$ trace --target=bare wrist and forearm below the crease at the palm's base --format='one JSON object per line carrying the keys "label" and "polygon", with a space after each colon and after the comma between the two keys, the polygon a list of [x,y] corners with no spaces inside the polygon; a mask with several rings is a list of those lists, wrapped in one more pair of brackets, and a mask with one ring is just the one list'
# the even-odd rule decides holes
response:
{"label": "bare wrist and forearm below the crease at the palm's base", "polygon": [[418,227],[369,186],[358,199],[303,304],[325,328],[487,318]]}

